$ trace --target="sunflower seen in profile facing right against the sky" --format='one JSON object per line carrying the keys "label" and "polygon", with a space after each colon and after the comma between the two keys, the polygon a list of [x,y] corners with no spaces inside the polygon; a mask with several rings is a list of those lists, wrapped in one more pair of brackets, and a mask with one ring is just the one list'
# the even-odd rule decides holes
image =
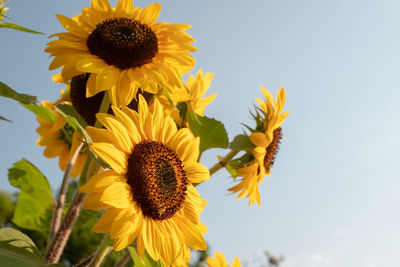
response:
{"label": "sunflower seen in profile facing right against the sky", "polygon": [[271,173],[271,167],[274,164],[275,155],[282,138],[281,125],[286,116],[289,115],[289,111],[281,113],[286,99],[285,89],[281,88],[279,90],[276,101],[265,88],[260,86],[260,89],[266,99],[264,101],[257,98],[260,109],[264,114],[262,121],[263,131],[251,133],[250,140],[256,146],[252,151],[254,160],[247,166],[236,170],[238,176],[243,177],[243,179],[239,184],[229,189],[234,193],[240,192],[238,198],[247,194],[249,205],[254,204],[255,201],[260,205],[261,199],[258,184],[264,180],[265,175],[269,176]]}

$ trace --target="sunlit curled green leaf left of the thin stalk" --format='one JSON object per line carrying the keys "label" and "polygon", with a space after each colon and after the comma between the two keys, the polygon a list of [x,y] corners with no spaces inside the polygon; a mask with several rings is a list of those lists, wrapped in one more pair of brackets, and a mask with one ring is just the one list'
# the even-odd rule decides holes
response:
{"label": "sunlit curled green leaf left of the thin stalk", "polygon": [[54,207],[46,177],[29,161],[22,159],[8,170],[10,184],[21,190],[12,222],[30,230],[46,231]]}

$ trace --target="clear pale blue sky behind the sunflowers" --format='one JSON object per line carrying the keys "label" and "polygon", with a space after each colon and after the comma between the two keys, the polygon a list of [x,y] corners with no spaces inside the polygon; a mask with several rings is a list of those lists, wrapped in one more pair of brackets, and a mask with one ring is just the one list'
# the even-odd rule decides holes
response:
{"label": "clear pale blue sky behind the sunflowers", "polygon": [[[141,7],[153,1],[136,1]],[[112,1],[114,6],[116,1]],[[89,1],[14,0],[8,21],[47,35],[0,29],[0,81],[56,100],[43,51],[63,31],[55,14],[73,16]],[[248,109],[286,88],[290,110],[261,207],[227,193],[225,171],[199,186],[208,200],[202,220],[212,249],[258,266],[263,251],[285,256],[283,267],[399,266],[400,251],[400,2],[371,0],[162,1],[159,21],[187,23],[197,40],[196,69],[215,73],[218,93],[206,115],[222,120],[232,139]],[[22,157],[54,190],[57,160],[36,146],[35,117],[0,98],[0,188]],[[202,163],[212,166],[210,150]]]}

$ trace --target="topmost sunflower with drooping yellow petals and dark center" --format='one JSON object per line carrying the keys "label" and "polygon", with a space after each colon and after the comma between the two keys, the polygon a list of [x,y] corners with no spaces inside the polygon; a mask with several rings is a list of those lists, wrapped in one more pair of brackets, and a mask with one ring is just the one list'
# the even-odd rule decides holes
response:
{"label": "topmost sunflower with drooping yellow petals and dark center", "polygon": [[72,19],[57,15],[68,32],[52,35],[58,40],[45,49],[54,56],[49,69],[62,67],[65,82],[90,73],[87,97],[109,90],[111,103],[119,107],[128,105],[139,88],[172,92],[193,68],[189,52],[196,48],[183,32],[190,25],[155,22],[160,11],[159,3],[141,9],[132,0],[119,0],[112,8],[108,0],[92,0]]}

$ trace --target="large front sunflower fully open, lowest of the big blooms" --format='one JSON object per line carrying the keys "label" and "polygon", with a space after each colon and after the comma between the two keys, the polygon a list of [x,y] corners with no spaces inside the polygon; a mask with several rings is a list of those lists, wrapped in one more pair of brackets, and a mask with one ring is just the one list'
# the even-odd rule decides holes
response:
{"label": "large front sunflower fully open, lowest of the big blooms", "polygon": [[111,168],[80,188],[89,194],[84,208],[106,210],[93,231],[110,232],[116,251],[136,239],[140,256],[146,250],[167,266],[186,258],[187,247],[205,250],[205,201],[192,185],[210,177],[198,162],[199,138],[178,130],[158,100],[149,108],[139,95],[138,112],[113,112],[97,114],[105,129],[86,128],[91,150]]}

